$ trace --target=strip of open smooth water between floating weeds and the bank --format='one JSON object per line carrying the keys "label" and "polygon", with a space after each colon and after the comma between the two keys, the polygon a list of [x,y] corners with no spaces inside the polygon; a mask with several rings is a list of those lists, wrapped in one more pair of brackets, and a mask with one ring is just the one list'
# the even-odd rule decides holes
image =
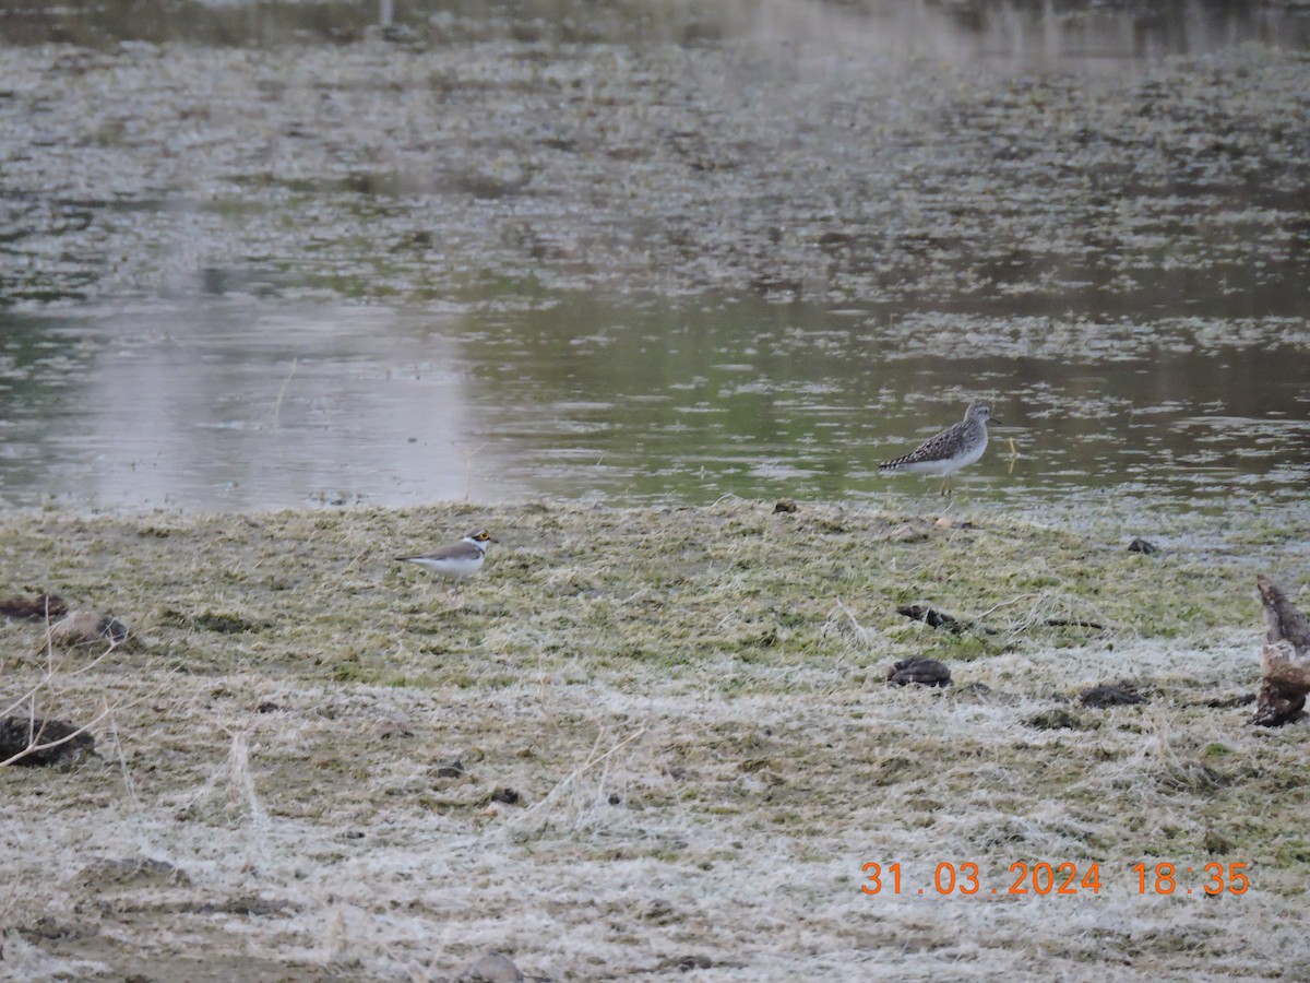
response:
{"label": "strip of open smooth water between floating weeds and the bank", "polygon": [[931,495],[876,465],[973,396],[1006,426],[956,482],[969,501],[1222,511],[1310,481],[1310,355],[1186,333],[1108,363],[977,357],[884,343],[857,312],[595,299],[462,317],[210,300],[3,328],[10,506]]}

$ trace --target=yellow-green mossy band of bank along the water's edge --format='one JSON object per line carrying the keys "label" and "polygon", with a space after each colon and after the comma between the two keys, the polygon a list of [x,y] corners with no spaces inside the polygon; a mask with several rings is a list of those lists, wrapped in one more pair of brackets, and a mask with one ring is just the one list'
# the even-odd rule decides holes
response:
{"label": "yellow-green mossy band of bank along the water's edge", "polygon": [[[393,562],[473,524],[500,543],[458,604],[430,574]],[[745,501],[38,515],[0,528],[10,592],[110,611],[185,672],[472,684],[514,675],[523,659],[541,670],[584,653],[588,672],[621,679],[723,658],[743,670],[865,667],[892,654],[968,662],[1116,638],[1204,645],[1218,629],[1259,624],[1256,548],[1216,560],[1127,545],[998,515],[807,505],[787,514]],[[908,604],[968,629],[926,629],[897,613]],[[738,675],[723,683],[749,688],[752,674]]]}

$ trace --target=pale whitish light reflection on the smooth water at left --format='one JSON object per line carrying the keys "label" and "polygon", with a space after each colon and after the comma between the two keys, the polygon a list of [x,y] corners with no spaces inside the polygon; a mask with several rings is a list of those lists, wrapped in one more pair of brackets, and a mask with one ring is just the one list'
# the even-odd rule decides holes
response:
{"label": "pale whitish light reflection on the smooth water at left", "polygon": [[0,494],[199,509],[461,495],[447,455],[478,429],[465,366],[393,320],[244,304],[4,318]]}

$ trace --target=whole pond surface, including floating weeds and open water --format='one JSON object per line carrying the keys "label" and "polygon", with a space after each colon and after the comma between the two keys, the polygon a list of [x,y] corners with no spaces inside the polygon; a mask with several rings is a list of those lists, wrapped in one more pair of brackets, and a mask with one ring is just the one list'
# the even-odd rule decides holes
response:
{"label": "whole pond surface, including floating weeds and open water", "polygon": [[1294,7],[198,9],[5,14],[12,507],[1305,507]]}

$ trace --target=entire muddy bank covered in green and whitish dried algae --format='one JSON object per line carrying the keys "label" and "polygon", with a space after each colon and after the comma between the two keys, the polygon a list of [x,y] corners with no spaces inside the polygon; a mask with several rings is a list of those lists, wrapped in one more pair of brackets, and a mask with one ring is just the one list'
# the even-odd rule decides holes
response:
{"label": "entire muddy bank covered in green and whitish dried algae", "polygon": [[[1255,573],[1310,528],[1141,556],[951,515],[8,519],[5,590],[143,645],[4,628],[5,696],[52,659],[38,712],[111,713],[98,759],[0,771],[0,974],[443,979],[496,949],[552,979],[1301,978],[1307,730],[1231,700]],[[500,544],[457,606],[390,560],[474,524]],[[955,685],[887,687],[909,655]],[[1120,679],[1148,703],[1076,699]],[[862,893],[869,861],[899,895]],[[1102,886],[1011,895],[1019,861]],[[1250,890],[1207,896],[1205,864]]]}

